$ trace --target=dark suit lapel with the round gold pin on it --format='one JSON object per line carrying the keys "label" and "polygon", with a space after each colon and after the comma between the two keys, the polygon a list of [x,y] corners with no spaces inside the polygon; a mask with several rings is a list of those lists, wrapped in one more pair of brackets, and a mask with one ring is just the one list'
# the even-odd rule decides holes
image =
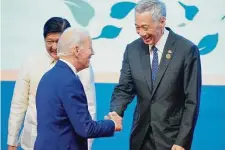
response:
{"label": "dark suit lapel with the round gold pin on it", "polygon": [[164,76],[165,71],[166,71],[170,61],[172,60],[173,54],[176,50],[176,48],[175,48],[176,34],[173,31],[171,31],[169,28],[167,28],[167,30],[169,30],[170,32],[169,32],[166,44],[163,49],[163,54],[162,54],[162,58],[161,58],[160,65],[159,65],[159,71],[156,76],[152,96],[154,95],[162,77]]}

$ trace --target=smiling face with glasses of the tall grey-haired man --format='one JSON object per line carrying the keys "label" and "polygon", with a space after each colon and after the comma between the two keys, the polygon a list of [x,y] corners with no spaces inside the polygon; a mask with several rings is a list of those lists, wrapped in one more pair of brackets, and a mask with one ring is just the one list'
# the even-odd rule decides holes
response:
{"label": "smiling face with glasses of the tall grey-haired man", "polygon": [[135,26],[137,34],[145,44],[155,45],[163,35],[166,19],[161,17],[158,21],[152,20],[150,12],[135,13]]}

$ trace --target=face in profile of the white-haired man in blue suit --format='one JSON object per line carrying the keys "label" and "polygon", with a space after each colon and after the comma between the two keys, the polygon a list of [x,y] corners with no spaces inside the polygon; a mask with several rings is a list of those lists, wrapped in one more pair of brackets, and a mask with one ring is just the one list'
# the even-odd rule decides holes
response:
{"label": "face in profile of the white-haired man in blue suit", "polygon": [[91,56],[94,55],[90,37],[86,37],[79,47],[78,63],[82,69],[88,68]]}

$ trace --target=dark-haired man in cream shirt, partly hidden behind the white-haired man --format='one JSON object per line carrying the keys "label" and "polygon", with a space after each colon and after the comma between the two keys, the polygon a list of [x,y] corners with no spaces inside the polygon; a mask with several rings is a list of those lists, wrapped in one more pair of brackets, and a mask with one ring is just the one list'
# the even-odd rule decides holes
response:
{"label": "dark-haired man in cream shirt, partly hidden behind the white-haired man", "polygon": [[[66,19],[60,17],[50,18],[45,23],[43,31],[46,51],[40,55],[31,57],[20,71],[11,103],[8,126],[8,150],[17,149],[19,131],[23,123],[24,127],[20,136],[21,147],[25,150],[33,150],[37,136],[35,104],[37,86],[42,75],[57,62],[57,43],[62,32],[68,27],[70,27],[70,23]],[[92,67],[90,66],[79,72],[78,75],[87,95],[88,108],[92,117],[95,118],[95,85]],[[89,143],[90,147],[91,144]]]}

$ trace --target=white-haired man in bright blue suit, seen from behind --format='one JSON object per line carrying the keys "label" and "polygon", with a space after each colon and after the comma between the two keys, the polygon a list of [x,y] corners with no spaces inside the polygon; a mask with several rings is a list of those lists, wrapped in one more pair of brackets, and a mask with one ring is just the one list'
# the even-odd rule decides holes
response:
{"label": "white-haired man in bright blue suit, seen from behind", "polygon": [[113,136],[122,118],[93,121],[77,72],[89,66],[94,54],[88,32],[68,28],[58,41],[59,61],[42,77],[36,95],[35,150],[87,150],[87,139]]}

